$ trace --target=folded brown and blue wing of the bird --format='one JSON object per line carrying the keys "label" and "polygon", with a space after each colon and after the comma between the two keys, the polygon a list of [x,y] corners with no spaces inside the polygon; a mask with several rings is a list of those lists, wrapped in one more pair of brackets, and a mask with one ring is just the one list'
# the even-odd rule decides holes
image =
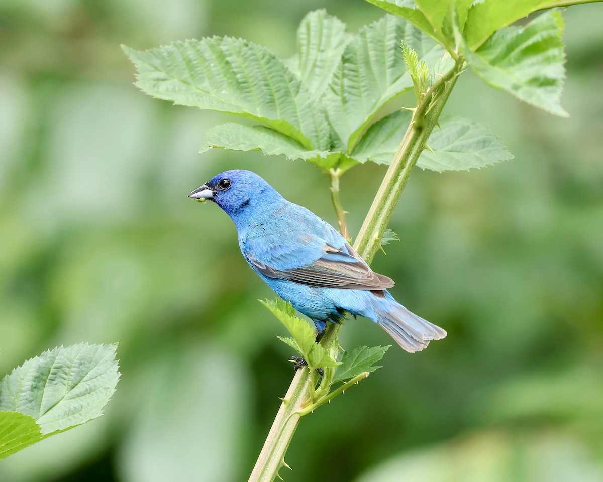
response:
{"label": "folded brown and blue wing of the bird", "polygon": [[[308,249],[308,245],[303,244],[298,247],[289,245],[287,246],[289,249],[271,250],[270,255],[261,256],[267,262],[250,253],[247,259],[257,271],[269,278],[279,278],[309,286],[356,290],[383,290],[394,286],[391,278],[373,272],[343,237],[341,241],[343,245],[340,248],[330,242],[323,242],[321,245],[314,244],[312,248],[315,249],[312,250]],[[285,246],[281,247],[285,248]],[[277,269],[274,265],[280,264],[279,251],[287,258],[295,257],[296,251],[300,251],[301,258],[307,258],[312,252],[314,255],[311,257],[314,259],[296,268]]]}

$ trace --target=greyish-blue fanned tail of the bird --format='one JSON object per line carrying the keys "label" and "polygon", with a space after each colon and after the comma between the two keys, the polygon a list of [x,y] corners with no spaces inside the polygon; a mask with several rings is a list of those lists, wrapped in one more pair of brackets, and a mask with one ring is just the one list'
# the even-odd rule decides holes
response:
{"label": "greyish-blue fanned tail of the bird", "polygon": [[446,330],[407,310],[391,295],[384,303],[374,304],[373,309],[377,315],[374,321],[409,353],[427,348],[431,340],[446,337]]}

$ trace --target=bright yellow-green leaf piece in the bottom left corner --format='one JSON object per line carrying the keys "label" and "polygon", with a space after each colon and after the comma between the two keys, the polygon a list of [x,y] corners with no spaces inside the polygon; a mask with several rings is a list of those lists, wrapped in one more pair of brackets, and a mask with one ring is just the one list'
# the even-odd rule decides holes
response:
{"label": "bright yellow-green leaf piece in the bottom left corner", "polygon": [[0,460],[43,439],[40,426],[30,415],[0,412]]}

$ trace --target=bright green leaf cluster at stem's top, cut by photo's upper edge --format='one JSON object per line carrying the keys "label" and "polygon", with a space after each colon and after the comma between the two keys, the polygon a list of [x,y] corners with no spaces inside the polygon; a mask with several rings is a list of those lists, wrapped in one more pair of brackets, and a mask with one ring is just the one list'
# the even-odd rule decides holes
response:
{"label": "bright green leaf cluster at stem's top, cut by photo's upper edge", "polygon": [[508,27],[534,11],[554,7],[555,2],[367,1],[406,19],[453,58],[462,56],[488,85],[552,114],[567,116],[559,102],[565,75],[561,13],[549,10],[524,27]]}

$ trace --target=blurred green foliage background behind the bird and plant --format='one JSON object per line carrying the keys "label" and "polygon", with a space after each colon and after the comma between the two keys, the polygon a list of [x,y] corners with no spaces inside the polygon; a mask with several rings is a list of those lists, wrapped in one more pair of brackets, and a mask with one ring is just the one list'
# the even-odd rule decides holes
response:
{"label": "blurred green foliage background behind the bird and plant", "polygon": [[[235,228],[186,195],[258,172],[335,224],[328,179],[257,152],[198,155],[224,117],[151,99],[119,48],[213,34],[295,51],[309,10],[356,31],[361,0],[4,0],[0,4],[0,374],[57,345],[119,341],[106,416],[0,462],[0,480],[247,480],[292,377],[272,293]],[[446,340],[301,422],[290,482],[603,480],[603,5],[566,19],[569,119],[464,74],[445,113],[515,158],[417,169],[374,269]],[[354,235],[384,175],[342,180]],[[391,343],[351,320],[344,348]]]}

